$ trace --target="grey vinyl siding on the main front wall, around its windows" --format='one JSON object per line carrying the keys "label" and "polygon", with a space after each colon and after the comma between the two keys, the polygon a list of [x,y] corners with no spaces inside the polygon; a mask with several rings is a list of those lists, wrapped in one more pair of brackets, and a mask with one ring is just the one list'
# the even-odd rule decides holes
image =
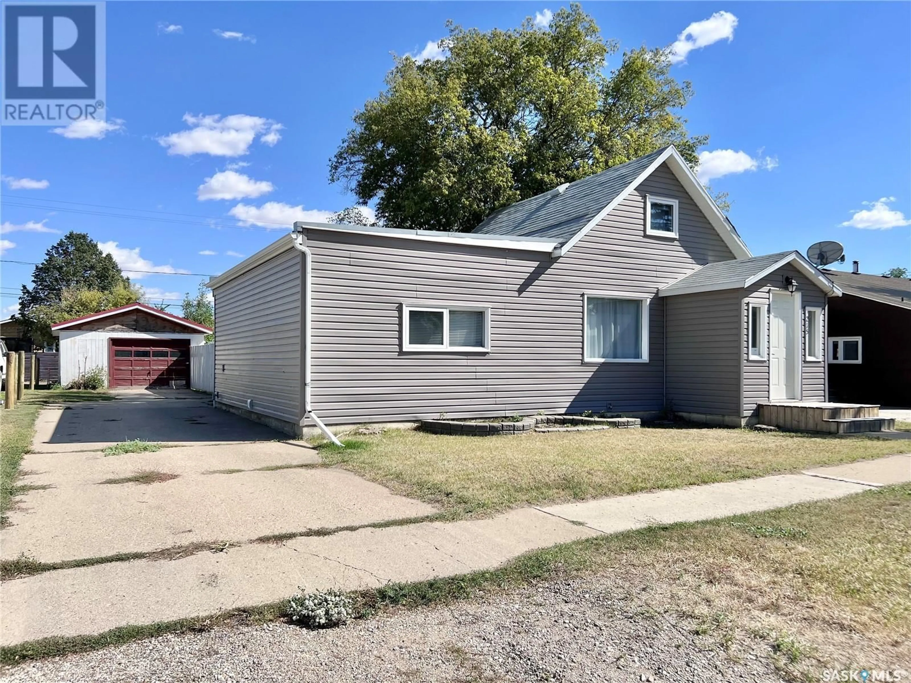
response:
{"label": "grey vinyl siding on the main front wall, around its windows", "polygon": [[[645,235],[646,193],[679,199],[679,240]],[[698,265],[733,258],[666,166],[559,260],[320,229],[307,230],[307,245],[313,410],[336,424],[660,411],[664,321],[655,294]],[[649,362],[583,362],[585,293],[652,297]],[[490,306],[491,351],[403,352],[403,302]]]}

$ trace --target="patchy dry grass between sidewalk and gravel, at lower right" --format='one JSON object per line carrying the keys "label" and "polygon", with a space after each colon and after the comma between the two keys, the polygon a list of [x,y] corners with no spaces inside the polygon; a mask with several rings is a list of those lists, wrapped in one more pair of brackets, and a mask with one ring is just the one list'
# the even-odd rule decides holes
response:
{"label": "patchy dry grass between sidewalk and gravel, at lower right", "polygon": [[911,484],[605,539],[587,558],[649,607],[785,678],[911,668]]}

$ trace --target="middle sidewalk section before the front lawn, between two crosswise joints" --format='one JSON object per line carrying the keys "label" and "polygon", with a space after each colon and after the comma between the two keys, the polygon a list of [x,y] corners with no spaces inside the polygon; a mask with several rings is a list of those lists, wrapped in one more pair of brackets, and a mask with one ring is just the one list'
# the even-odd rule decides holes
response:
{"label": "middle sidewalk section before the front lawn, between two crosswise joints", "polygon": [[803,474],[782,474],[538,509],[549,515],[581,522],[605,534],[614,534],[650,525],[741,515],[867,490],[868,486],[860,484]]}

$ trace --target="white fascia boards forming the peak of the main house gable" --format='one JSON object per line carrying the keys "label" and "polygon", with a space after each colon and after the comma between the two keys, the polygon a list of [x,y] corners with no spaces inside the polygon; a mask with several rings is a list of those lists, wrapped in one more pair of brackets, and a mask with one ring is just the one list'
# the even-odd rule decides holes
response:
{"label": "white fascia boards forming the peak of the main house gable", "polygon": [[563,256],[568,250],[573,248],[573,245],[585,237],[589,230],[594,228],[601,219],[609,214],[611,210],[617,207],[617,205],[626,199],[630,192],[640,186],[640,183],[648,178],[656,168],[660,167],[665,161],[670,161],[670,169],[673,171],[674,175],[680,181],[683,189],[687,190],[693,201],[696,202],[696,205],[702,209],[702,212],[705,214],[706,218],[709,219],[712,228],[714,228],[719,236],[724,240],[724,243],[728,245],[728,248],[732,251],[733,255],[737,259],[749,259],[752,257],[750,250],[747,249],[746,244],[743,240],[734,232],[731,224],[728,222],[728,219],[725,218],[722,213],[722,209],[718,208],[718,205],[715,204],[714,200],[709,197],[709,194],[705,191],[705,188],[702,187],[702,183],[696,178],[693,174],[690,166],[683,160],[680,156],[680,153],[673,148],[673,146],[667,148],[660,157],[656,158],[651,162],[649,168],[646,168],[642,171],[635,180],[633,180],[630,185],[627,186],[613,201],[611,201],[608,206],[604,209],[601,209],[598,214],[588,223],[585,224],[585,227],[580,229],[573,237],[568,240],[562,247],[554,250],[554,257],[558,258]]}

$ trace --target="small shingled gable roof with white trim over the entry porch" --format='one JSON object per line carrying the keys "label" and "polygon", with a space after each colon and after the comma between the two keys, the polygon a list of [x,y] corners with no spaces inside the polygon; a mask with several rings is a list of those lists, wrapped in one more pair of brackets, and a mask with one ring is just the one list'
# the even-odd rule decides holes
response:
{"label": "small shingled gable roof with white trim over the entry porch", "polygon": [[695,294],[701,291],[742,290],[762,280],[788,263],[804,273],[814,284],[830,296],[841,296],[841,290],[832,280],[817,270],[798,251],[780,251],[777,254],[753,256],[750,259],[722,260],[707,263],[680,280],[665,285],[658,291],[662,297],[675,294]]}

